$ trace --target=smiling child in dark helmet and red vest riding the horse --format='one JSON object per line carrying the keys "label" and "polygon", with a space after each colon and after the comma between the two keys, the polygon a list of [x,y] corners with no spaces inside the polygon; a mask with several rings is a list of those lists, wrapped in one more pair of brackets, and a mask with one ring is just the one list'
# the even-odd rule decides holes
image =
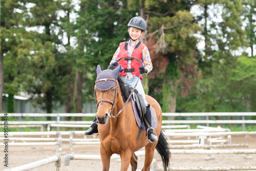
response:
{"label": "smiling child in dark helmet and red vest riding the horse", "polygon": [[[133,17],[127,26],[129,27],[128,32],[131,39],[127,42],[120,43],[110,62],[110,66],[111,68],[115,68],[117,65],[121,65],[123,67],[123,71],[120,73],[121,79],[132,88],[137,83],[136,90],[142,95],[146,105],[146,113],[144,115],[146,120],[144,120],[144,124],[147,130],[147,139],[150,142],[156,142],[157,136],[154,135],[155,130],[152,127],[150,104],[146,100],[141,83],[142,74],[147,74],[153,69],[150,53],[147,47],[139,41],[140,36],[146,30],[146,22],[141,17]],[[95,117],[90,129],[84,134],[92,135],[98,133],[97,126],[98,121]]]}

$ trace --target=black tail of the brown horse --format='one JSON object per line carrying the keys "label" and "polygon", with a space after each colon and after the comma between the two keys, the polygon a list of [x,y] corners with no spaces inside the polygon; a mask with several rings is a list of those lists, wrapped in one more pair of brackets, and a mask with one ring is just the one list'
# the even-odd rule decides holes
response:
{"label": "black tail of the brown horse", "polygon": [[161,133],[158,137],[158,143],[157,143],[156,149],[162,158],[164,171],[166,171],[167,168],[169,167],[170,151],[168,147],[167,138],[165,135],[163,135],[163,130],[161,130]]}

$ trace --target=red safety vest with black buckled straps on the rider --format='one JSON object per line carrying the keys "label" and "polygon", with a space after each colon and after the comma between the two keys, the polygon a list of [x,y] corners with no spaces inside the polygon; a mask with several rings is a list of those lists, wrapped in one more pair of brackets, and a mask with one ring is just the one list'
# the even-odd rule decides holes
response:
{"label": "red safety vest with black buckled straps on the rider", "polygon": [[[145,45],[139,41],[136,47],[134,48],[131,56],[128,56],[127,45],[128,45],[127,41],[121,42],[119,44],[120,52],[119,52],[117,61],[118,61],[118,65],[120,64],[124,69],[119,75],[126,75],[126,72],[131,72],[132,74],[139,77],[140,76],[139,67],[141,67],[141,63],[142,63],[142,50],[145,47]],[[131,69],[127,69],[128,60],[132,60]],[[140,79],[142,79],[142,74],[140,76]]]}

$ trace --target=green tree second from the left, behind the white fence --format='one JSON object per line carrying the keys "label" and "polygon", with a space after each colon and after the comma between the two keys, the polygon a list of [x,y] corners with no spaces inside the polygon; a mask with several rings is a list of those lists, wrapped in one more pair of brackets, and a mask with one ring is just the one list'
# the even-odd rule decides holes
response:
{"label": "green tree second from the left, behind the white fence", "polygon": [[[24,76],[26,81],[23,86],[47,113],[52,113],[57,102],[63,103],[65,93],[62,92],[67,92],[67,86],[62,85],[67,84],[65,75],[70,74],[65,70],[65,67],[69,69],[69,60],[61,52],[65,51],[58,16],[62,8],[60,1],[34,1],[24,16],[26,27],[42,31],[34,32],[31,42],[33,46],[29,49],[30,57],[27,62],[30,70],[25,71],[27,75]],[[23,57],[28,58],[28,54],[24,53]]]}

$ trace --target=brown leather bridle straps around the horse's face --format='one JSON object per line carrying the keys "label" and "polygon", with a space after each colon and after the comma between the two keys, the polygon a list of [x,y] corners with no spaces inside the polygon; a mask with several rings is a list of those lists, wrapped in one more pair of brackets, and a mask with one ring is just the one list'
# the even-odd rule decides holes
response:
{"label": "brown leather bridle straps around the horse's face", "polygon": [[102,104],[102,102],[108,102],[108,103],[111,103],[112,104],[112,109],[111,111],[109,112],[109,115],[110,117],[112,118],[115,118],[116,116],[113,116],[112,112],[113,112],[113,109],[115,108],[115,102],[116,102],[116,97],[118,96],[118,92],[117,92],[117,81],[115,79],[111,79],[111,78],[104,78],[104,79],[99,79],[95,82],[95,84],[99,81],[115,81],[116,82],[116,86],[115,86],[115,95],[114,95],[114,99],[113,101],[111,100],[106,100],[106,99],[100,99],[99,101],[97,101],[97,97],[95,98],[95,102],[96,102],[96,107],[97,107],[97,111],[98,111],[98,106],[99,106],[99,103]]}

